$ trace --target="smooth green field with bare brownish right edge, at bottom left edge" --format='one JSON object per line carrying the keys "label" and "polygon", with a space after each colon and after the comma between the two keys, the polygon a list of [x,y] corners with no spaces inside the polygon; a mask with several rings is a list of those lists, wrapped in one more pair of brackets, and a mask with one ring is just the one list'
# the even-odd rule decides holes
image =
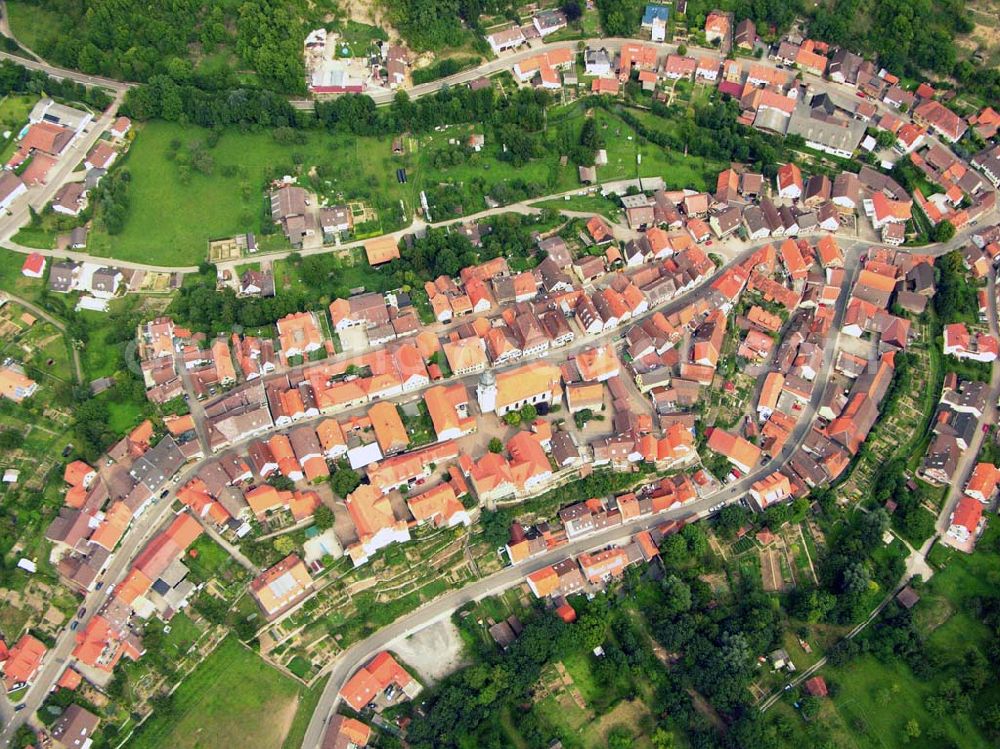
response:
{"label": "smooth green field with bare brownish right edge, at bottom left edge", "polygon": [[305,689],[228,637],[178,687],[170,707],[154,713],[129,745],[274,749],[300,723],[296,711],[306,697]]}

